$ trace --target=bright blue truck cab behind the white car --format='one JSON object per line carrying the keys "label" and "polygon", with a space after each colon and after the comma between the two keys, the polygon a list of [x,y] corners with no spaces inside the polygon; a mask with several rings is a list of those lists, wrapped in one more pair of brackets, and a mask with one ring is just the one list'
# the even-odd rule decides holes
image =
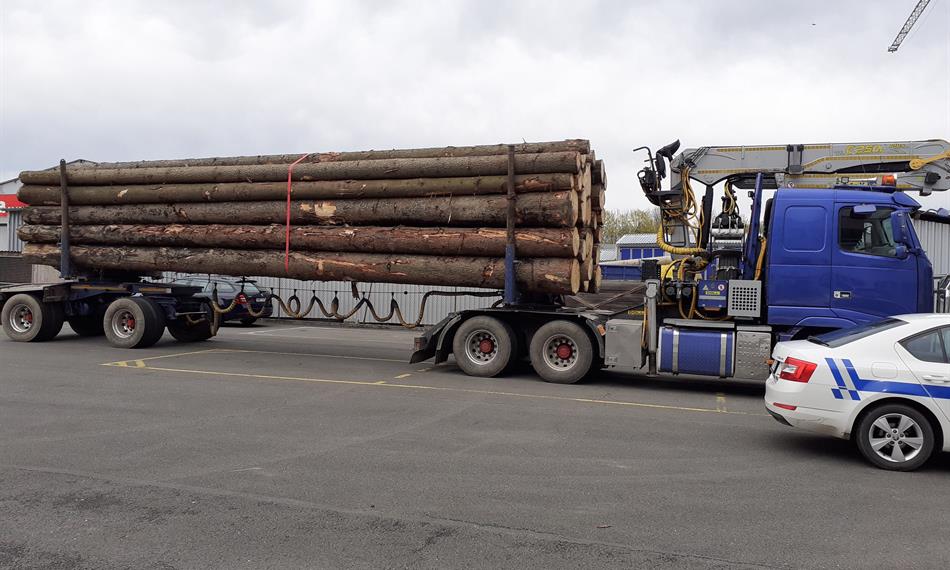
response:
{"label": "bright blue truck cab behind the white car", "polygon": [[933,310],[933,268],[901,192],[780,188],[765,210],[766,321],[836,329]]}

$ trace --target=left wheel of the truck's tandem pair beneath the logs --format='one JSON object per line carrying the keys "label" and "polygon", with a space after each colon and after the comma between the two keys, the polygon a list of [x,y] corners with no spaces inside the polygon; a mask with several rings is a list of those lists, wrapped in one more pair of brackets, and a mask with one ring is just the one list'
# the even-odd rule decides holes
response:
{"label": "left wheel of the truck's tandem pair beneath the logs", "polygon": [[504,372],[515,352],[515,334],[496,318],[479,316],[463,322],[452,340],[455,363],[469,376],[492,378]]}

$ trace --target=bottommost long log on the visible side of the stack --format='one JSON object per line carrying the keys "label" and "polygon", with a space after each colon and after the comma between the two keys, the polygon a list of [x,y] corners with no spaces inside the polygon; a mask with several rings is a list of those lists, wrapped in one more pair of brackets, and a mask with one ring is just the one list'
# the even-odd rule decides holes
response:
{"label": "bottommost long log on the visible side of the stack", "polygon": [[[77,266],[92,270],[181,271],[447,287],[504,286],[504,258],[498,257],[292,252],[289,270],[285,270],[283,252],[266,250],[77,245],[71,254]],[[23,258],[31,263],[58,266],[59,257],[55,245],[26,244],[23,248]],[[521,259],[515,279],[523,291],[574,294],[580,288],[580,267],[576,259]]]}

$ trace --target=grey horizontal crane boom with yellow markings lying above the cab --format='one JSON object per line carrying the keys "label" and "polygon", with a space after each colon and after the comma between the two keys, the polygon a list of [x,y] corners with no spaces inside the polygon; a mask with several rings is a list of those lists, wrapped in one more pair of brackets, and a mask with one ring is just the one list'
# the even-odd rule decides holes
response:
{"label": "grey horizontal crane boom with yellow markings lying above the cab", "polygon": [[767,188],[896,186],[927,195],[950,189],[950,143],[934,139],[701,147],[677,155],[670,171],[673,190],[682,186],[684,173],[707,186],[729,180],[738,188],[750,188],[761,172]]}

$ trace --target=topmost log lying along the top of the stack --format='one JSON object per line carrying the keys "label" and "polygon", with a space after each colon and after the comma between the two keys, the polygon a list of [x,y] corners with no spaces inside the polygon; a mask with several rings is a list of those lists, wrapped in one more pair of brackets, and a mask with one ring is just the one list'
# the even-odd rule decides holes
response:
{"label": "topmost log lying along the top of the stack", "polygon": [[[545,152],[574,151],[591,154],[590,142],[582,139],[549,141],[540,143],[518,143],[514,145],[517,154],[539,154]],[[390,158],[437,158],[463,156],[492,156],[508,154],[507,144],[447,146],[433,148],[410,148],[393,150],[367,150],[356,152],[319,152],[307,155],[303,163],[343,162],[353,160],[382,160]],[[168,168],[180,166],[248,166],[256,164],[291,164],[304,153],[262,154],[257,156],[223,156],[210,158],[185,158],[174,160],[140,160],[134,162],[100,162],[104,168]]]}

